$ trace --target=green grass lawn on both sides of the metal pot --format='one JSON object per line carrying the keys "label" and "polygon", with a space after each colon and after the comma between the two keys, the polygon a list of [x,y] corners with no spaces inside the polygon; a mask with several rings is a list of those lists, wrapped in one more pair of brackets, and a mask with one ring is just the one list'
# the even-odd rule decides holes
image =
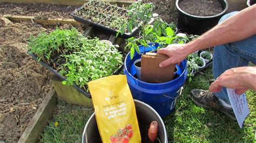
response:
{"label": "green grass lawn on both sides of the metal pot", "polygon": [[[188,97],[191,89],[208,89],[213,79],[211,67],[203,72],[184,85],[176,110],[164,118],[169,142],[256,142],[256,93],[246,92],[251,113],[240,129],[237,121],[223,113],[201,108]],[[59,101],[41,142],[81,142],[92,112],[93,109]]]}

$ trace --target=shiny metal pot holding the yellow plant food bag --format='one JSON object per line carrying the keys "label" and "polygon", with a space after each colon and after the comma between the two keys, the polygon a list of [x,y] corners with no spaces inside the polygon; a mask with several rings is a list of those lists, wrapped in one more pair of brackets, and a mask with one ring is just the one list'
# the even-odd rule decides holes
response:
{"label": "shiny metal pot holding the yellow plant food bag", "polygon": [[[155,120],[158,123],[157,137],[161,143],[167,143],[168,141],[165,125],[158,113],[153,108],[151,108],[151,106],[143,102],[134,100],[134,104],[139,122],[139,130],[142,137],[142,142],[147,142],[147,131],[149,130],[149,125],[152,121]],[[99,135],[95,113],[92,114],[85,125],[82,142],[102,142]]]}

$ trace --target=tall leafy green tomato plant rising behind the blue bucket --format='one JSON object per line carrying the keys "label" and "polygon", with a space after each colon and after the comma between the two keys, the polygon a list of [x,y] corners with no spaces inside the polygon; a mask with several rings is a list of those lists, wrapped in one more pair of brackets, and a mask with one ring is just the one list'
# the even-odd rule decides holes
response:
{"label": "tall leafy green tomato plant rising behind the blue bucket", "polygon": [[[145,48],[149,45],[149,42],[159,42],[160,47],[165,47],[173,43],[184,43],[184,35],[179,36],[174,33],[173,29],[174,24],[170,25],[164,22],[156,13],[152,13],[154,10],[154,5],[152,3],[141,3],[136,2],[129,6],[129,19],[119,30],[117,35],[129,31],[132,33],[133,27],[142,28],[139,32],[139,37],[132,37],[127,39],[128,44],[125,48],[130,49],[130,56],[133,59],[134,52],[136,51],[139,54],[145,53]],[[175,27],[176,30],[176,27]],[[180,33],[181,34],[181,33]],[[181,40],[179,40],[180,38]],[[188,38],[185,37],[187,40]],[[140,52],[138,45],[143,45],[143,53]]]}

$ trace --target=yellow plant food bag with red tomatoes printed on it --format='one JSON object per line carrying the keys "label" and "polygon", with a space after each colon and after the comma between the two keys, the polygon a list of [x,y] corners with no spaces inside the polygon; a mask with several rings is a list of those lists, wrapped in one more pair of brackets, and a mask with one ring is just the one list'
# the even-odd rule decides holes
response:
{"label": "yellow plant food bag with red tomatoes printed on it", "polygon": [[126,75],[89,82],[96,121],[103,142],[141,142],[135,105]]}

